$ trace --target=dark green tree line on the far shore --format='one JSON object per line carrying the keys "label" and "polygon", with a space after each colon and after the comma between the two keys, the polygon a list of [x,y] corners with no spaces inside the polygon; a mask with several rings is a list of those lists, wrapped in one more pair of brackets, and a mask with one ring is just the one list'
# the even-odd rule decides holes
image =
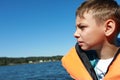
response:
{"label": "dark green tree line on the far shore", "polygon": [[51,56],[51,57],[0,57],[0,66],[3,65],[15,65],[15,64],[26,64],[26,63],[39,63],[49,61],[60,61],[63,56]]}

